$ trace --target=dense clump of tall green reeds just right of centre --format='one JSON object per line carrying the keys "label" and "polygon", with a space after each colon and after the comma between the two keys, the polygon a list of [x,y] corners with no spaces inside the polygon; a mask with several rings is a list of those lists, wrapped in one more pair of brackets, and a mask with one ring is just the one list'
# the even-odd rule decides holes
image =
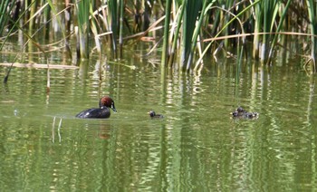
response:
{"label": "dense clump of tall green reeds just right of centre", "polygon": [[[204,1],[204,7],[207,6],[207,2],[209,1]],[[173,24],[174,27],[172,28],[173,31],[168,30],[169,20],[171,19],[170,6],[171,2],[167,1],[161,63],[163,66],[168,65],[171,67],[174,62],[175,53],[179,52],[179,69],[188,70],[194,57],[195,47],[197,45],[197,37],[200,33],[200,27],[203,20],[203,14],[200,14],[201,17],[199,20],[197,20],[199,17],[199,12],[204,12],[202,11],[203,0],[199,0],[198,2],[186,0],[183,1],[181,5],[178,5],[174,2],[173,7],[178,7],[174,11],[178,12],[178,14],[176,14],[177,18],[174,18],[175,22]],[[170,43],[168,43],[168,36],[171,37]],[[178,47],[178,51],[176,51],[178,39],[180,39],[180,46]]]}

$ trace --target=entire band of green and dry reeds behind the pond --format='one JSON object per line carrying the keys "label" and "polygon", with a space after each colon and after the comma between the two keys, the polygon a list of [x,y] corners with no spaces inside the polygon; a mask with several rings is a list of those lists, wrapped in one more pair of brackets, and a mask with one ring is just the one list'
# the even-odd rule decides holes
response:
{"label": "entire band of green and dry reeds behind the pond", "polygon": [[[162,68],[199,71],[207,55],[219,54],[270,65],[277,54],[291,52],[303,56],[301,64],[313,73],[316,7],[312,0],[2,0],[0,51],[5,53],[7,38],[20,31],[44,55],[54,52],[47,44],[57,42],[71,57],[71,38],[77,58],[97,54],[120,61],[128,45],[153,41]],[[62,35],[52,40],[53,34]]]}

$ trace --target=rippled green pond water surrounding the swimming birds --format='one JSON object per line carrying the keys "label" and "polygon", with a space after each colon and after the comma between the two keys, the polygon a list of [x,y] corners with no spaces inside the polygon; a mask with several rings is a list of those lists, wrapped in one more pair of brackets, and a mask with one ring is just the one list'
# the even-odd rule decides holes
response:
{"label": "rippled green pond water surrounding the swimming birds", "polygon": [[[233,63],[162,75],[147,61],[92,62],[51,70],[49,95],[44,69],[14,68],[0,86],[1,190],[317,190],[314,76],[248,61],[237,82]],[[118,110],[110,119],[74,118],[104,94]],[[232,120],[237,106],[259,118]]]}

